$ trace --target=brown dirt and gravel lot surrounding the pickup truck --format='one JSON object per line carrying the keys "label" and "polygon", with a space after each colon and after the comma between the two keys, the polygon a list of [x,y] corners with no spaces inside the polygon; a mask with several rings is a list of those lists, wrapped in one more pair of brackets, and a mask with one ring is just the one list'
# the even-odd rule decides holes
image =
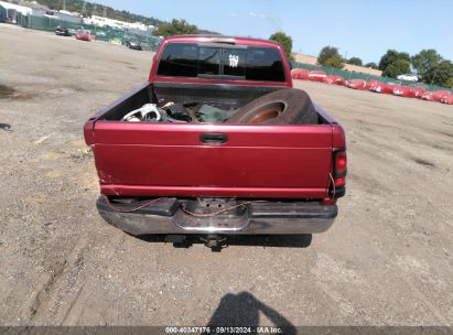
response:
{"label": "brown dirt and gravel lot surrounding the pickup truck", "polygon": [[452,106],[296,83],[347,132],[333,228],[175,248],[103,221],[82,133],[152,54],[6,25],[0,45],[1,324],[453,323]]}

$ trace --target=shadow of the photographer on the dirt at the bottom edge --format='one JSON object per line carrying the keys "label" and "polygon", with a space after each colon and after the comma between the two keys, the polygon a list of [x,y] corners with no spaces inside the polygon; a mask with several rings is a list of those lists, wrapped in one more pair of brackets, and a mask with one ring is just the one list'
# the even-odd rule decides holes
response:
{"label": "shadow of the photographer on the dirt at the bottom edge", "polygon": [[262,333],[256,328],[260,325],[260,314],[272,323],[272,327],[278,327],[281,331],[279,334],[296,334],[291,322],[249,292],[224,295],[207,326],[212,331],[216,327],[251,327],[251,332],[248,334]]}

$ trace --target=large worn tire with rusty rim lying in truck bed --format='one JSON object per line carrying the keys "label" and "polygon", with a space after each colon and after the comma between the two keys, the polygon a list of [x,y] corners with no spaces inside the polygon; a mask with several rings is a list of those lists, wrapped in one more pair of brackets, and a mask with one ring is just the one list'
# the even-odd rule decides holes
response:
{"label": "large worn tire with rusty rim lying in truck bed", "polygon": [[309,95],[284,88],[263,95],[238,109],[227,123],[317,125],[317,114]]}

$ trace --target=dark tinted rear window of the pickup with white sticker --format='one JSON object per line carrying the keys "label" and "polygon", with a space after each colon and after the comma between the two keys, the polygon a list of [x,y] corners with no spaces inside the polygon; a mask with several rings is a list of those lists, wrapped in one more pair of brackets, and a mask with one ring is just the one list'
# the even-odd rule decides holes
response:
{"label": "dark tinted rear window of the pickup with white sticker", "polygon": [[271,47],[216,47],[193,43],[165,46],[159,76],[227,76],[237,79],[284,82],[280,53]]}

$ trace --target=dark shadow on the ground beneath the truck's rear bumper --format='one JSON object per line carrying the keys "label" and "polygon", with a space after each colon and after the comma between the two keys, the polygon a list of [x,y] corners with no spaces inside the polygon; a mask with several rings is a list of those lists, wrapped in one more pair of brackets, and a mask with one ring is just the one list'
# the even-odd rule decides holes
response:
{"label": "dark shadow on the ground beneath the truck's rear bumper", "polygon": [[[183,238],[182,236],[162,236],[162,235],[143,235],[136,236],[147,242],[173,242],[175,248],[190,248],[194,245],[205,244],[204,236],[190,235]],[[228,236],[225,241],[213,251],[220,251],[229,246],[250,246],[250,247],[268,247],[268,248],[308,248],[312,242],[311,234],[303,235],[242,235]]]}

